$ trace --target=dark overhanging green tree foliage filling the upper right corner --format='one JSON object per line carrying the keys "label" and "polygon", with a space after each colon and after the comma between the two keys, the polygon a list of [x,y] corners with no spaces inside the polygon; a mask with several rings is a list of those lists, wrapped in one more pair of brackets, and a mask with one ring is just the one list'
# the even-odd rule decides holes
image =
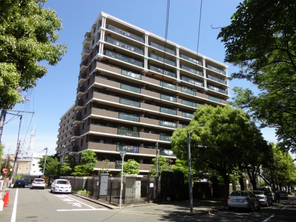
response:
{"label": "dark overhanging green tree foliage filling the upper right corner", "polygon": [[259,88],[234,89],[233,105],[261,126],[276,128],[286,149],[296,146],[296,2],[244,0],[218,38],[225,44],[225,62],[240,68],[232,78],[247,79]]}

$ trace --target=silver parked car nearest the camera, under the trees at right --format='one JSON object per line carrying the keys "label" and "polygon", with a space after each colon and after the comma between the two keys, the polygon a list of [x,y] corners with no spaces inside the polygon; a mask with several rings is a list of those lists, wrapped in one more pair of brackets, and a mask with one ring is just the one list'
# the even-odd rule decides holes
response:
{"label": "silver parked car nearest the camera, under the trees at right", "polygon": [[259,199],[251,192],[247,190],[233,191],[227,200],[228,209],[230,211],[233,208],[247,208],[250,212],[254,212],[254,209],[261,209]]}

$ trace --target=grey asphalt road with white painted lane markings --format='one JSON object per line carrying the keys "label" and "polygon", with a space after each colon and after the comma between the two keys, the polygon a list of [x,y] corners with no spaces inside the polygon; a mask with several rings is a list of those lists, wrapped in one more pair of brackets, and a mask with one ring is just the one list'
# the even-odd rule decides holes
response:
{"label": "grey asphalt road with white painted lane markings", "polygon": [[13,188],[9,204],[0,212],[2,222],[295,222],[296,197],[281,199],[271,207],[248,213],[223,211],[208,216],[146,215],[110,210],[71,194],[53,194],[49,189]]}

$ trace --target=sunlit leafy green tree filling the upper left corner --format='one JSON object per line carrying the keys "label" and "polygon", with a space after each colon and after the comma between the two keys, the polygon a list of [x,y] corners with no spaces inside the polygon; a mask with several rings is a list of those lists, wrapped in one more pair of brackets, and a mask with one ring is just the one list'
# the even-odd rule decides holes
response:
{"label": "sunlit leafy green tree filling the upper left corner", "polygon": [[46,0],[0,1],[0,108],[9,110],[22,102],[20,90],[36,86],[47,73],[47,61],[56,65],[67,46],[55,43],[62,30],[62,20]]}

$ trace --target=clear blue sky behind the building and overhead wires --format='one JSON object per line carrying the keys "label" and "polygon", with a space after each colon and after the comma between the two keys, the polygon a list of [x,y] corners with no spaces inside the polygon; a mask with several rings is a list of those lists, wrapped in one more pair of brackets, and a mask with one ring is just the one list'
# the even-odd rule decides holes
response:
{"label": "clear blue sky behind the building and overhead wires", "polygon": [[[223,62],[224,45],[217,39],[219,29],[230,24],[230,17],[242,0],[203,0],[201,9],[198,52]],[[197,51],[200,0],[170,0],[167,38],[170,41]],[[37,87],[23,95],[31,100],[17,105],[13,110],[34,111],[24,113],[20,137],[22,148],[29,146],[30,131],[36,125],[34,151],[48,148],[48,154],[54,154],[60,117],[74,104],[81,59],[82,41],[101,11],[114,17],[165,37],[167,0],[48,0],[45,8],[52,8],[62,19],[63,30],[59,32],[59,42],[68,45],[67,54],[57,66],[47,66],[48,73],[37,81]],[[42,63],[43,64],[43,63]],[[228,74],[238,69],[229,66]],[[233,80],[234,86],[252,87],[245,80]],[[256,91],[256,88],[253,87]],[[231,101],[231,99],[229,100]],[[12,118],[6,116],[6,121]],[[4,125],[1,141],[4,152],[14,152],[17,146],[20,118]],[[265,140],[276,142],[273,129],[263,129]]]}

